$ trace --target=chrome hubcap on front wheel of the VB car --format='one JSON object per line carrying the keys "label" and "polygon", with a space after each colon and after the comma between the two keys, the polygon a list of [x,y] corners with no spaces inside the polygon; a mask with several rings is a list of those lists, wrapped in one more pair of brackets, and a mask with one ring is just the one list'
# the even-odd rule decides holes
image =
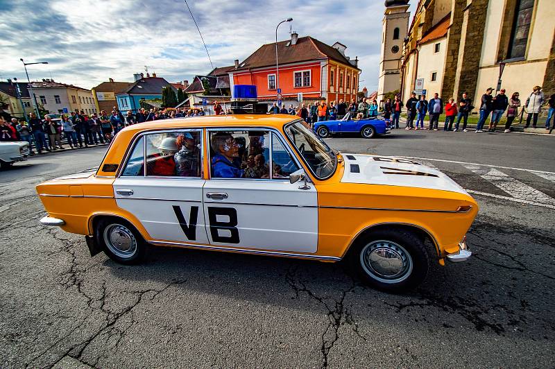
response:
{"label": "chrome hubcap on front wheel of the VB car", "polygon": [[412,273],[411,255],[398,243],[372,241],[360,253],[361,266],[373,279],[384,283],[399,283]]}

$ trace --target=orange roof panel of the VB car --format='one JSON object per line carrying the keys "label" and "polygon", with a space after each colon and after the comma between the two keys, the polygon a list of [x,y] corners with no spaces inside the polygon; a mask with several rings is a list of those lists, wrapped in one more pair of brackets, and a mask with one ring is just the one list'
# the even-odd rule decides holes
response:
{"label": "orange roof panel of the VB car", "polygon": [[289,114],[237,114],[237,115],[207,115],[205,117],[189,117],[160,119],[144,123],[133,124],[123,130],[160,130],[173,128],[210,128],[210,127],[239,127],[264,126],[281,129],[285,123],[296,121],[300,117]]}

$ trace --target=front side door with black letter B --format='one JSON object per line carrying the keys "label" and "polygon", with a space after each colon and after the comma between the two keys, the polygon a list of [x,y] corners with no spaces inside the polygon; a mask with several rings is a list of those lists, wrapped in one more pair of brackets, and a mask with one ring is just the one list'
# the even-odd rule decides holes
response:
{"label": "front side door with black letter B", "polygon": [[268,128],[208,130],[207,139],[211,176],[203,196],[210,243],[316,252],[316,189],[289,182],[300,164],[281,134]]}

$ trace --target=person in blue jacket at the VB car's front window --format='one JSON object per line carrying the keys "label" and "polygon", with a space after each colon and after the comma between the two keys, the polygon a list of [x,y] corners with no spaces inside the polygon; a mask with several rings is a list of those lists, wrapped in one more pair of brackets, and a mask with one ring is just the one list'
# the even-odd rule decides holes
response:
{"label": "person in blue jacket at the VB car's front window", "polygon": [[244,169],[235,164],[239,158],[239,146],[229,133],[216,133],[212,136],[210,146],[216,155],[212,157],[212,172],[214,177],[241,178]]}

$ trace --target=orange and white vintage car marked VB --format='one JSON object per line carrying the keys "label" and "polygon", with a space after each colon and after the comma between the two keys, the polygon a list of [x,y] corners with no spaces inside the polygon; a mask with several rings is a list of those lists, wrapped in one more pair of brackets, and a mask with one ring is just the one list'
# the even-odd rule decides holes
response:
{"label": "orange and white vintage car marked VB", "polygon": [[332,150],[290,115],[229,115],[121,130],[99,169],[37,186],[44,225],[124,264],[150,246],[340,261],[379,289],[465,261],[478,206],[417,162]]}

